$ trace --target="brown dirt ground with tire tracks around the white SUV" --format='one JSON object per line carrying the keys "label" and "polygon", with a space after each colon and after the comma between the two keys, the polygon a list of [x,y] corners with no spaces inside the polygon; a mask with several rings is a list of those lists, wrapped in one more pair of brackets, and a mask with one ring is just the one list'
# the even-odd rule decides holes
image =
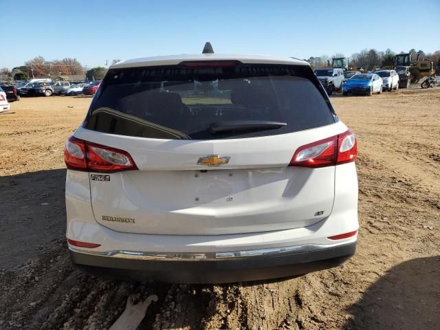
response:
{"label": "brown dirt ground with tire tracks around the white SUV", "polygon": [[0,329],[107,329],[151,292],[139,329],[440,329],[440,89],[332,96],[358,135],[358,252],[300,278],[141,285],[85,276],[65,233],[63,145],[90,98],[0,115]]}

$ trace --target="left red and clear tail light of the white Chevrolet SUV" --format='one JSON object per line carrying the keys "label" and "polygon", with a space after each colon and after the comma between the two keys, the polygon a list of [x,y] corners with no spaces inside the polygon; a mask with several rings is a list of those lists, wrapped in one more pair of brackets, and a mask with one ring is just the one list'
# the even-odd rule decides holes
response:
{"label": "left red and clear tail light of the white Chevrolet SUV", "polygon": [[126,151],[69,137],[64,148],[64,161],[71,170],[115,173],[137,170],[133,158]]}

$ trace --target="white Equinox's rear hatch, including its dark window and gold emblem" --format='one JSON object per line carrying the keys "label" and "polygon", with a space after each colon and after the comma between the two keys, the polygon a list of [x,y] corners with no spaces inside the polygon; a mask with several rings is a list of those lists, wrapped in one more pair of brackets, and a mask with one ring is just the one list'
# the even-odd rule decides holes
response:
{"label": "white Equinox's rear hatch, including its dark window and gold emblem", "polygon": [[75,138],[87,157],[125,163],[89,167],[98,223],[238,234],[328,217],[335,166],[289,164],[346,129],[307,65],[186,61],[109,69]]}

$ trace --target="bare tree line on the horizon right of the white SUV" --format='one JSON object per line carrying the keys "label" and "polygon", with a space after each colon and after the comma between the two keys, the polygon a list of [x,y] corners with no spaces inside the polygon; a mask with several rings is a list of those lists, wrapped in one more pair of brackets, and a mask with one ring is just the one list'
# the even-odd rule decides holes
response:
{"label": "bare tree line on the horizon right of the white SUV", "polygon": [[[406,52],[400,52],[400,54],[405,54]],[[433,53],[425,54],[423,50],[415,50],[412,48],[408,51],[408,53],[420,54],[419,58],[425,58],[434,62],[434,65],[440,67],[440,50],[437,50]],[[349,67],[358,68],[358,67],[366,67],[368,69],[373,69],[373,67],[390,67],[394,65],[394,56],[395,52],[390,50],[389,48],[382,52],[377,51],[375,49],[371,50],[361,50],[358,53],[352,54],[349,56]],[[327,65],[331,65],[331,58],[338,57],[346,57],[344,54],[333,54],[333,56],[322,55],[318,57],[311,56],[309,59],[305,60],[310,63],[310,65],[314,68],[318,67],[326,67]]]}

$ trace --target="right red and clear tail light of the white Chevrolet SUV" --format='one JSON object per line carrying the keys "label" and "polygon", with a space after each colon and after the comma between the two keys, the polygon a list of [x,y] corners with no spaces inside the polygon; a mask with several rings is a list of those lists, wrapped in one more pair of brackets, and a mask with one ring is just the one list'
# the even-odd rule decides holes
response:
{"label": "right red and clear tail light of the white Chevrolet SUV", "polygon": [[352,131],[327,137],[296,149],[289,166],[325,167],[354,162],[358,142]]}

